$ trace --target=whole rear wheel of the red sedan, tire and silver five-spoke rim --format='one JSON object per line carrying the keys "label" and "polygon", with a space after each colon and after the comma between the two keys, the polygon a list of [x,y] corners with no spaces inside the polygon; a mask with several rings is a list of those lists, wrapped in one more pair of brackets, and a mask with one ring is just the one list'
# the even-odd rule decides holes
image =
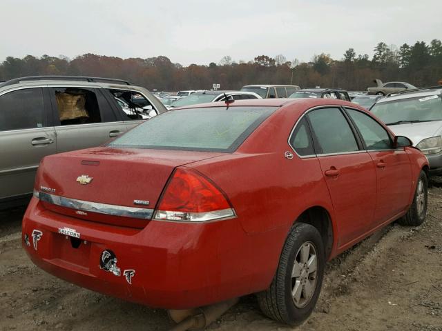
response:
{"label": "whole rear wheel of the red sedan, tire and silver five-spoke rim", "polygon": [[314,309],[323,283],[325,254],[314,226],[296,223],[287,237],[270,287],[258,293],[267,317],[296,325]]}

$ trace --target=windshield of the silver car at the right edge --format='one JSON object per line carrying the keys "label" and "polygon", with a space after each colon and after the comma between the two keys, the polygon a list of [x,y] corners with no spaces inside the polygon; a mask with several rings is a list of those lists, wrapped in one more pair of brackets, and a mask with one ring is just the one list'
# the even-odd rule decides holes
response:
{"label": "windshield of the silver car at the right edge", "polygon": [[387,125],[408,121],[441,121],[442,97],[439,94],[378,102],[371,111]]}

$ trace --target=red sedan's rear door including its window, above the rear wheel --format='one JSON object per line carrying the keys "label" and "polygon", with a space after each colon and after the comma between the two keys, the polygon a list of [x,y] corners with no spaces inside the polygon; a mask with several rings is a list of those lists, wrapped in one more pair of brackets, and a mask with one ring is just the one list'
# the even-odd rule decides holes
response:
{"label": "red sedan's rear door including its window, above the rear wheel", "polygon": [[334,206],[338,246],[351,245],[373,228],[376,172],[372,159],[340,108],[311,110],[307,118]]}

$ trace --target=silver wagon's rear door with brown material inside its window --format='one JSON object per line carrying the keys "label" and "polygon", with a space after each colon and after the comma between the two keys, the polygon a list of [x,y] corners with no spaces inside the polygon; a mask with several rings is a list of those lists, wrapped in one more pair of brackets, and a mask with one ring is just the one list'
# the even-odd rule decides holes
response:
{"label": "silver wagon's rear door with brown material inside its window", "polygon": [[101,146],[126,131],[99,88],[50,88],[57,152]]}

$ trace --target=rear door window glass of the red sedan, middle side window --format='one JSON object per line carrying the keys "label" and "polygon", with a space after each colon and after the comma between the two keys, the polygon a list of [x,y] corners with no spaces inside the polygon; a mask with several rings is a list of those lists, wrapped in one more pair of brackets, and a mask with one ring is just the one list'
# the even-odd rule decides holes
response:
{"label": "rear door window glass of the red sedan, middle side window", "polygon": [[347,120],[338,108],[309,112],[311,129],[318,140],[318,154],[355,152],[358,144]]}

